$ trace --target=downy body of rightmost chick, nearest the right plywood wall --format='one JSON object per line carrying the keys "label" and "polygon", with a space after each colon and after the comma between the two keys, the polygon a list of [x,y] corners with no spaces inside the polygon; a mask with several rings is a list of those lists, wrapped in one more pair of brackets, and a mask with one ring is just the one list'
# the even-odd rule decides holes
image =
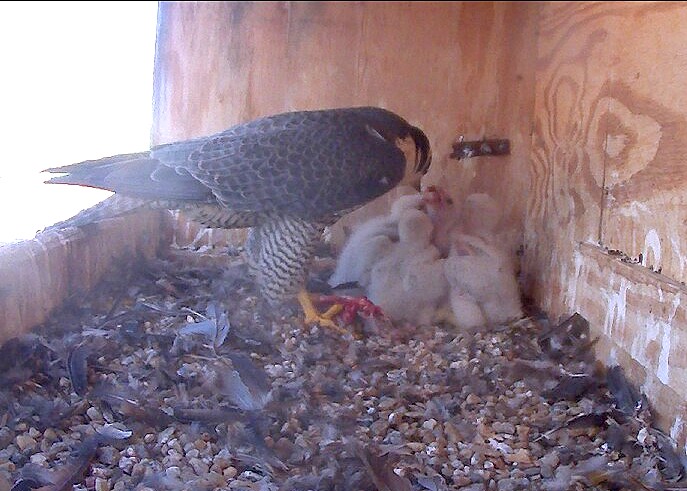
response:
{"label": "downy body of rightmost chick, nearest the right plywood wall", "polygon": [[444,272],[458,325],[476,327],[478,309],[489,324],[522,317],[512,258],[488,240],[465,234],[456,237]]}

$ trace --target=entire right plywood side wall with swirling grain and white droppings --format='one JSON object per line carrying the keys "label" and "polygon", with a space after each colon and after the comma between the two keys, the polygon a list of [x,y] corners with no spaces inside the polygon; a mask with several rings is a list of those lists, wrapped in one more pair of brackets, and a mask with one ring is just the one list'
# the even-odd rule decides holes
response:
{"label": "entire right plywood side wall with swirling grain and white droppings", "polygon": [[683,444],[685,39],[684,2],[542,5],[525,236],[537,303],[587,317]]}

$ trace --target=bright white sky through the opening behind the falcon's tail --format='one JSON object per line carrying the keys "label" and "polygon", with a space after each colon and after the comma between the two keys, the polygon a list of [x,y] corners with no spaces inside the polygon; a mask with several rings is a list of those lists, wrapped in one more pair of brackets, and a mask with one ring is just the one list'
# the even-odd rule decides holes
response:
{"label": "bright white sky through the opening behind the falcon's tail", "polygon": [[48,167],[149,148],[157,2],[0,2],[0,244],[109,196]]}

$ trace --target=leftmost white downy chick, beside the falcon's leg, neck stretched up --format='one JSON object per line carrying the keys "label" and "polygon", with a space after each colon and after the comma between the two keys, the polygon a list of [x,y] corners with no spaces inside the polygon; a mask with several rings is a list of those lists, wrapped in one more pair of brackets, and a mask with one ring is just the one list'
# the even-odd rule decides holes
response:
{"label": "leftmost white downy chick, beside the falcon's leg, neck stretched up", "polygon": [[423,205],[420,193],[403,195],[396,199],[388,215],[371,218],[356,227],[341,249],[329,285],[336,287],[357,282],[367,287],[372,266],[398,242],[400,217],[406,210],[419,209]]}

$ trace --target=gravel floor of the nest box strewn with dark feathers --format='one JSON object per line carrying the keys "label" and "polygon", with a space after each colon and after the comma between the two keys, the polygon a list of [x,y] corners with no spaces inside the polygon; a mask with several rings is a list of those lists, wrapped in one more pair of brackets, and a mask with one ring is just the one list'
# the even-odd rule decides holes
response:
{"label": "gravel floor of the nest box strewn with dark feathers", "polygon": [[579,316],[341,334],[228,262],[139,265],[0,349],[0,491],[683,488]]}

